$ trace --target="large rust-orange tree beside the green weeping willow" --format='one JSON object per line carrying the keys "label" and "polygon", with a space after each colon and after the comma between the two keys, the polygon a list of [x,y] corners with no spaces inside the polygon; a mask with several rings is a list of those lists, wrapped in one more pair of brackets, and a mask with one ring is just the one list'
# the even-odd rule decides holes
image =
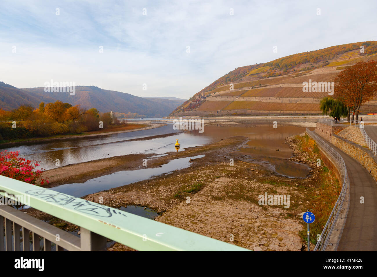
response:
{"label": "large rust-orange tree beside the green weeping willow", "polygon": [[[377,61],[359,62],[349,66],[334,80],[334,97],[348,107],[349,121],[351,109],[359,119],[362,104],[377,95]],[[352,119],[354,119],[354,113]]]}

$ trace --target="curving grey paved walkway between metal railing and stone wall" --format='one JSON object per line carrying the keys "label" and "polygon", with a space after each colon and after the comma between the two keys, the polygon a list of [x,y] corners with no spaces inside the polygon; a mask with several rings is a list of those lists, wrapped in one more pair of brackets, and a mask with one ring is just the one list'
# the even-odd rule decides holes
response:
{"label": "curving grey paved walkway between metal railing and stone wall", "polygon": [[[338,251],[377,251],[377,183],[358,161],[323,140],[342,156],[351,185],[351,200]],[[361,196],[364,204],[360,203]]]}

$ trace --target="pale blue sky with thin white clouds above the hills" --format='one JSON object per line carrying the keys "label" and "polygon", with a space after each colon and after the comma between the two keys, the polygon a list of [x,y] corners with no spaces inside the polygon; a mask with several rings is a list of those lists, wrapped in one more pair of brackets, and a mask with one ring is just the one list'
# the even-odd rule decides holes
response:
{"label": "pale blue sky with thin white clouds above the hills", "polygon": [[188,99],[236,67],[377,40],[376,11],[375,0],[2,0],[0,81]]}

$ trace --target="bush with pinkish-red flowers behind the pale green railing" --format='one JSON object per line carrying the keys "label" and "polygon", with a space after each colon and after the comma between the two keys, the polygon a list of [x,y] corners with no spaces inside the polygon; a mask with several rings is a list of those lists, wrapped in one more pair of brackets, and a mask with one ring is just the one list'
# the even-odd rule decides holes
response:
{"label": "bush with pinkish-red flowers behind the pale green railing", "polygon": [[39,165],[37,161],[29,161],[18,157],[18,152],[0,152],[0,175],[20,180],[35,185],[40,182],[43,185],[48,183],[47,179],[42,179],[41,174],[43,168],[35,170]]}

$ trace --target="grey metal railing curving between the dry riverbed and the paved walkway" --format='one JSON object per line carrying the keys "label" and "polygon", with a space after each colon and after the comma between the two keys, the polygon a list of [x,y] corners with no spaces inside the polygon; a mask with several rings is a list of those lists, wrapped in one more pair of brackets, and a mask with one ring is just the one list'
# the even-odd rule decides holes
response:
{"label": "grey metal railing curving between the dry riverbed and the paved walkway", "polygon": [[329,243],[331,233],[333,232],[334,227],[339,218],[340,211],[342,210],[343,202],[346,196],[346,191],[347,191],[347,188],[349,187],[349,179],[348,179],[348,174],[347,174],[347,168],[346,168],[346,165],[342,156],[340,156],[340,154],[336,152],[336,150],[333,147],[327,144],[322,138],[320,138],[316,133],[310,131],[308,128],[306,130],[306,133],[308,134],[308,136],[314,139],[314,141],[318,145],[320,145],[323,149],[325,149],[326,152],[328,152],[328,154],[333,157],[333,159],[337,161],[337,163],[340,165],[340,168],[339,168],[340,176],[342,176],[343,178],[342,190],[340,191],[339,197],[336,200],[334,208],[331,211],[331,214],[323,228],[322,233],[320,234],[320,239],[318,240],[316,246],[314,247],[314,251],[325,251]]}

